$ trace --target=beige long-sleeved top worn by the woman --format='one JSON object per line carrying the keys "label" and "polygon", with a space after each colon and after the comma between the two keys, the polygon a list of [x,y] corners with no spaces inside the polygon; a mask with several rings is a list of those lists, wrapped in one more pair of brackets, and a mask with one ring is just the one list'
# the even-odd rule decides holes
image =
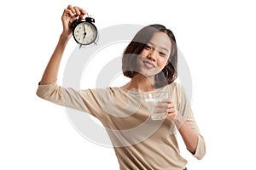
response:
{"label": "beige long-sleeved top worn by the woman", "polygon": [[[205,141],[196,125],[189,101],[177,83],[166,86],[179,114],[198,133],[197,159],[206,152]],[[58,105],[64,105],[96,116],[106,128],[120,169],[183,169],[187,161],[180,155],[175,133],[169,120],[152,121],[143,95],[123,88],[74,90],[56,82],[39,85],[37,94]]]}

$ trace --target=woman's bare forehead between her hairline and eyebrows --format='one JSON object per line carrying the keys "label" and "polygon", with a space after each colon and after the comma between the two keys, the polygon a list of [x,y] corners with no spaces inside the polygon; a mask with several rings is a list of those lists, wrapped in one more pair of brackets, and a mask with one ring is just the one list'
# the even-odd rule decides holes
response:
{"label": "woman's bare forehead between her hairline and eyebrows", "polygon": [[149,43],[153,44],[156,48],[171,51],[172,42],[170,37],[165,32],[157,31],[150,39]]}

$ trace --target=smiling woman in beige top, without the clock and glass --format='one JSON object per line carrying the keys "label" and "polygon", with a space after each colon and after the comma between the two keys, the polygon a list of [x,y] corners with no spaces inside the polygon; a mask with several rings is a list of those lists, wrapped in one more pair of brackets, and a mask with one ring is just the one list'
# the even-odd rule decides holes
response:
{"label": "smiling woman in beige top, without the clock and glass", "polygon": [[[37,94],[58,105],[65,105],[96,116],[108,131],[120,169],[185,169],[175,129],[189,152],[201,159],[205,141],[196,125],[183,88],[177,77],[177,45],[165,26],[145,26],[125,48],[122,69],[131,81],[120,88],[74,90],[61,88],[56,80],[62,54],[72,36],[70,24],[81,20],[86,11],[69,5],[62,14],[63,31],[39,82]],[[145,94],[167,89],[170,98],[154,107],[166,111],[162,121],[152,121]]]}

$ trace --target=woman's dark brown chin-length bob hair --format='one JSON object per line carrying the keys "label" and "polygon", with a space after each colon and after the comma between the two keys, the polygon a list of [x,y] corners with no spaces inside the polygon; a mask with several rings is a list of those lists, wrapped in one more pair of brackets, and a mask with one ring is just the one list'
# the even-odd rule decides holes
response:
{"label": "woman's dark brown chin-length bob hair", "polygon": [[167,84],[174,82],[177,78],[177,44],[176,39],[171,30],[162,25],[149,25],[143,27],[137,32],[125,48],[122,57],[122,70],[125,77],[134,77],[140,71],[138,59],[143,51],[143,48],[148,44],[155,32],[165,32],[170,37],[172,47],[171,54],[168,58],[168,64],[160,73],[154,76],[154,88],[162,88]]}

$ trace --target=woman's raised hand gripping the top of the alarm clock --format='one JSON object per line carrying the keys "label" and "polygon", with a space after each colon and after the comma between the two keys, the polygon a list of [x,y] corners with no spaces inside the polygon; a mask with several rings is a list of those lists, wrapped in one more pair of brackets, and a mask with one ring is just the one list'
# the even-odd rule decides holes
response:
{"label": "woman's raised hand gripping the top of the alarm clock", "polygon": [[83,8],[79,8],[77,6],[68,5],[67,8],[64,9],[63,14],[61,16],[63,32],[62,34],[66,35],[67,37],[72,36],[72,28],[71,24],[73,20],[82,20],[84,15],[87,12]]}

